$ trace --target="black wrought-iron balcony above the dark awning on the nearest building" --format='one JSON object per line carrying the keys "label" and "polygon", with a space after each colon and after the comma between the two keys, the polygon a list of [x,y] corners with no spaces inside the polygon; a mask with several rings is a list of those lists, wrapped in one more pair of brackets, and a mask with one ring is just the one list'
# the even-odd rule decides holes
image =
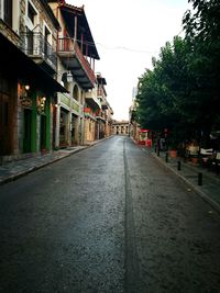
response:
{"label": "black wrought-iron balcony above the dark awning on the nearest building", "polygon": [[57,57],[52,45],[46,42],[45,36],[42,33],[28,32],[21,34],[21,49],[48,74],[54,75]]}

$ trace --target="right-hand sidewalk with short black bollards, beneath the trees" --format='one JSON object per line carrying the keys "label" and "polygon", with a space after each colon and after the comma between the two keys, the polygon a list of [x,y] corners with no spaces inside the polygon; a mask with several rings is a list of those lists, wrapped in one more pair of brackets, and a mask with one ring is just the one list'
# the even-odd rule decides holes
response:
{"label": "right-hand sidewalk with short black bollards, beneath the trees", "polygon": [[[145,151],[146,148],[144,149]],[[175,173],[188,188],[196,191],[205,201],[207,201],[216,211],[220,213],[220,176],[212,171],[208,171],[200,165],[184,162],[180,158],[169,158],[166,162],[166,153],[161,151],[160,157],[152,151],[152,156],[165,168]],[[180,170],[178,170],[180,161]],[[201,173],[202,182],[199,182],[199,173]],[[199,185],[199,183],[201,183]]]}

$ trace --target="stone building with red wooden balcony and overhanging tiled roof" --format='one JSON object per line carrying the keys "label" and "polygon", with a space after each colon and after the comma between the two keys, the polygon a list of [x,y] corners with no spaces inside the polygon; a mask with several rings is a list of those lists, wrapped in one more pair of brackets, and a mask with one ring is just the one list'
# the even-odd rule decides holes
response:
{"label": "stone building with red wooden balcony and overhanging tiled roof", "polygon": [[77,8],[65,1],[48,2],[61,24],[57,40],[57,80],[68,90],[68,94],[57,94],[55,146],[82,145],[95,139],[91,110],[100,108],[94,94],[95,61],[100,58],[84,7]]}

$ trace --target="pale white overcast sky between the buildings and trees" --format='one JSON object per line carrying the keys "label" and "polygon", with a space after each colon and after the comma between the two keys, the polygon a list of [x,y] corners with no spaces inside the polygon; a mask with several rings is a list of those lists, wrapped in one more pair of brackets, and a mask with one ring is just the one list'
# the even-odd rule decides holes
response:
{"label": "pale white overcast sky between the buildings and trees", "polygon": [[[183,31],[187,0],[66,0],[85,8],[100,60],[96,72],[106,78],[113,119],[129,120],[132,90],[152,57]],[[183,32],[180,33],[183,35]]]}

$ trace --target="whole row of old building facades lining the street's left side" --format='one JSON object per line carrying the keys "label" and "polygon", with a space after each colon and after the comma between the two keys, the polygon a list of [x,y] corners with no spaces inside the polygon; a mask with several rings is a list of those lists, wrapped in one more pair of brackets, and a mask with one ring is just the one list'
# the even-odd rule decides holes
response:
{"label": "whole row of old building facades lining the street's left side", "polygon": [[[65,1],[0,0],[1,161],[111,134],[112,110],[84,11]],[[102,89],[102,93],[100,91]]]}

